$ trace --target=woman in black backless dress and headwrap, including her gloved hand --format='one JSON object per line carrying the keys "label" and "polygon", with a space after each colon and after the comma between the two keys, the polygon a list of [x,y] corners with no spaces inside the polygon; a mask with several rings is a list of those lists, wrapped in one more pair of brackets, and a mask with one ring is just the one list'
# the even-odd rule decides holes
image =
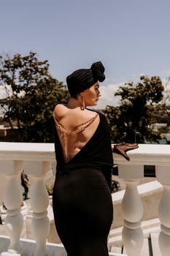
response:
{"label": "woman in black backless dress and headwrap, including her gloved hand", "polygon": [[[101,61],[74,71],[66,78],[69,102],[56,105],[53,112],[57,160],[53,211],[69,256],[109,255],[107,236],[113,217],[109,127],[103,114],[86,108],[97,105],[98,82],[104,79]],[[120,149],[127,158],[127,148]]]}

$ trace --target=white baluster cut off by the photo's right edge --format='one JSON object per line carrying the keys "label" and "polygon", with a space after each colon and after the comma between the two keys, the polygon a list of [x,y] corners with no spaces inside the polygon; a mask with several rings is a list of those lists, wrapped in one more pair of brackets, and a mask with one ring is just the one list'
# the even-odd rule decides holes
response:
{"label": "white baluster cut off by the photo's right edge", "polygon": [[156,166],[156,176],[163,185],[163,196],[158,207],[161,221],[159,246],[163,256],[170,255],[170,167]]}

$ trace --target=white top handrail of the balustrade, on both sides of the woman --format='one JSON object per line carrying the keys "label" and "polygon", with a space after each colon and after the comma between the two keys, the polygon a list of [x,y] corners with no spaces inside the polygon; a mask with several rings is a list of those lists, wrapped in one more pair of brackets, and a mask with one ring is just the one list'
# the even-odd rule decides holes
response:
{"label": "white top handrail of the balustrade, on both sides of the woman", "polygon": [[[123,165],[169,165],[170,145],[139,144],[139,148],[128,151],[130,162],[114,154],[115,164]],[[55,160],[54,143],[0,142],[0,159],[6,160]]]}

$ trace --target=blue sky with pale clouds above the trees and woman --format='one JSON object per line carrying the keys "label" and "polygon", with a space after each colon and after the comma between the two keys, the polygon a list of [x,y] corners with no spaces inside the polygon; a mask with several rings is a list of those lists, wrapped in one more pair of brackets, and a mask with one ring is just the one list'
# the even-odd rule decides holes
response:
{"label": "blue sky with pale clouds above the trees and woman", "polygon": [[108,88],[139,80],[141,74],[170,76],[169,0],[1,0],[0,4],[0,53],[34,51],[49,61],[53,77],[64,83],[74,69],[102,61],[106,104]]}

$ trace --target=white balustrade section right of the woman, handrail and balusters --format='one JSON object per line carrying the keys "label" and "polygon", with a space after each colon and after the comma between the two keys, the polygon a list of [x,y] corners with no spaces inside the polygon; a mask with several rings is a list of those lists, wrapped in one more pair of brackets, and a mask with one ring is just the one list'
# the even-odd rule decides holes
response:
{"label": "white balustrade section right of the woman, handrail and balusters", "polygon": [[126,184],[122,201],[122,237],[125,250],[128,255],[136,256],[142,249],[143,205],[137,185],[144,178],[144,165],[155,165],[155,177],[163,185],[163,196],[158,206],[158,217],[161,221],[159,246],[163,256],[170,255],[170,146],[141,144],[136,150],[129,151],[128,155],[130,162],[115,155],[118,176]]}

